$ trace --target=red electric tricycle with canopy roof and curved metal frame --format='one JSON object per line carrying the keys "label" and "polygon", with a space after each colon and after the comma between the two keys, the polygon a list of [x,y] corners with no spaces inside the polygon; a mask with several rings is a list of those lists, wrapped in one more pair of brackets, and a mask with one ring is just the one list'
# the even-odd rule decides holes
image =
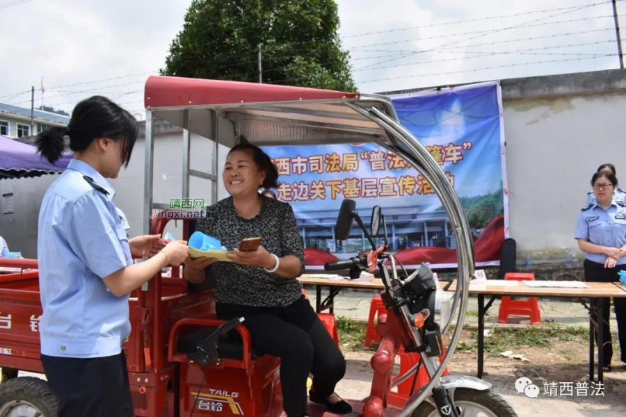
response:
{"label": "red electric tricycle with canopy roof and curved metal frame", "polygon": [[[211,203],[218,199],[220,148],[242,140],[263,147],[374,142],[417,168],[440,198],[458,242],[456,286],[454,291],[443,288],[428,265],[412,274],[399,268],[387,252],[380,207],[374,207],[371,230],[367,231],[355,202],[344,199],[337,218],[337,239],[345,239],[356,221],[371,243],[371,251],[367,256],[327,263],[325,268],[348,270],[351,277],[378,268],[387,310],[378,318],[380,345],[371,359],[371,390],[351,400],[353,414],[516,416],[487,382],[447,374],[474,275],[472,236],[454,188],[426,148],[399,124],[390,99],[284,85],[150,76],[145,84],[145,109],[144,234],[162,234],[172,220],[182,221],[184,239],[195,229],[193,215],[185,210],[172,212],[168,204],[153,201],[154,149],[163,131],[170,136],[182,133],[181,197],[190,197],[190,177],[197,177],[211,182],[207,188]],[[204,160],[207,171],[191,168],[192,137],[211,143],[211,157]],[[148,213],[153,210],[163,215],[150,218]],[[381,225],[385,233],[378,236]],[[383,245],[376,247],[374,238],[383,240]],[[23,371],[42,373],[37,262],[3,259],[0,265],[30,268],[29,272],[0,276],[0,417],[56,416],[56,398],[45,379],[22,376]],[[132,332],[124,350],[136,416],[284,415],[279,359],[255,350],[245,317],[227,322],[216,318],[210,287],[189,284],[179,268],[172,268],[171,277],[156,275],[134,291],[129,307]],[[336,335],[332,314],[319,315]],[[401,375],[394,375],[397,354],[411,358]],[[419,383],[417,375],[422,375]],[[410,391],[398,400],[395,388],[406,384]],[[324,414],[316,407],[310,404],[312,416]]]}

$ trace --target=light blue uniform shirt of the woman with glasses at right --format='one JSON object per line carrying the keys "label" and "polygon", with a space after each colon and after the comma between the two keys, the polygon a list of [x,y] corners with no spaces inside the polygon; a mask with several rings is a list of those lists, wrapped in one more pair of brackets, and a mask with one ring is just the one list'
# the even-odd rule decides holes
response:
{"label": "light blue uniform shirt of the woman with glasses at right", "polygon": [[[613,199],[607,210],[592,203],[583,208],[576,226],[575,238],[587,239],[600,246],[620,248],[626,245],[626,205]],[[605,254],[588,253],[585,256],[589,261],[604,263]],[[626,256],[617,263],[626,264]]]}

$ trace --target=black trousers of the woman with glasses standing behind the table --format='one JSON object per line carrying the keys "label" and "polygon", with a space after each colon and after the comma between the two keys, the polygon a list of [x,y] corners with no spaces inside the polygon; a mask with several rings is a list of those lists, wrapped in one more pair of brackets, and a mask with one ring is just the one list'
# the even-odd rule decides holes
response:
{"label": "black trousers of the woman with glasses standing behind the table", "polygon": [[[585,281],[588,282],[616,282],[619,281],[618,271],[626,270],[626,265],[617,265],[615,268],[604,268],[604,264],[585,259]],[[602,302],[602,333],[604,334],[604,346],[602,354],[604,364],[611,365],[613,359],[613,343],[611,338],[611,327],[609,316],[611,313],[609,298],[595,298],[591,301],[591,306],[596,307],[598,302]],[[620,359],[626,362],[626,298],[613,298],[615,306],[615,316],[618,325],[618,338],[620,341]],[[597,320],[597,316],[593,316]],[[597,332],[595,332],[595,343],[597,345]],[[598,347],[600,349],[600,347]]]}

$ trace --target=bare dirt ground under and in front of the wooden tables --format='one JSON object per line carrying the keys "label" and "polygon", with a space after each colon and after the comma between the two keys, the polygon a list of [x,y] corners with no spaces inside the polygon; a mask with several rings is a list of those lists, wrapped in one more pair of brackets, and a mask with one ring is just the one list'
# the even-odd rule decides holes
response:
{"label": "bare dirt ground under and in front of the wooden tables", "polygon": [[[474,335],[475,336],[475,335]],[[472,345],[470,332],[461,341]],[[603,417],[626,416],[626,364],[619,361],[619,347],[614,349],[613,370],[604,373],[604,387],[591,385],[588,379],[588,340],[581,335],[574,340],[551,340],[547,346],[509,347],[522,359],[503,357],[499,352],[485,352],[483,380],[505,398],[522,416]],[[337,387],[345,398],[362,399],[369,394],[371,367],[369,350],[346,350],[348,371]],[[476,376],[476,349],[457,350],[449,372]],[[528,377],[540,389],[538,398],[517,393],[515,381]],[[565,384],[570,383],[570,384]],[[572,386],[569,392],[568,386]]]}

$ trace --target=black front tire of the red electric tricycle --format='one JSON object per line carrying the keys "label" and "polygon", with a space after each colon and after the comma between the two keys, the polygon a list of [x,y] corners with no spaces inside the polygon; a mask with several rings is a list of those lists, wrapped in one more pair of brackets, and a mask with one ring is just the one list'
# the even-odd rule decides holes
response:
{"label": "black front tire of the red electric tricycle", "polygon": [[[463,409],[468,404],[477,404],[481,408],[491,411],[496,417],[517,417],[515,410],[500,395],[487,389],[479,391],[475,389],[458,388],[454,391],[454,402],[456,407]],[[439,417],[438,411],[430,402],[422,402],[413,411],[411,417]]]}

